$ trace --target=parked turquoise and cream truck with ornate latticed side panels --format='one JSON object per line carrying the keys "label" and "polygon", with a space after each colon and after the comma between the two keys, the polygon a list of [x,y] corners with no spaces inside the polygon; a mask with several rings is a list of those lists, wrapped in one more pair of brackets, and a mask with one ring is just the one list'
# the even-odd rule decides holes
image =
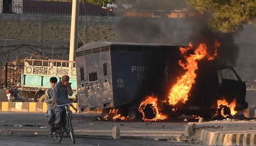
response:
{"label": "parked turquoise and cream truck with ornate latticed side panels", "polygon": [[50,78],[57,77],[58,81],[60,81],[63,75],[70,77],[69,82],[71,82],[74,94],[69,96],[69,99],[76,102],[75,61],[25,59],[21,80],[22,91],[32,93],[34,95],[32,101],[44,102],[45,90],[50,88]]}

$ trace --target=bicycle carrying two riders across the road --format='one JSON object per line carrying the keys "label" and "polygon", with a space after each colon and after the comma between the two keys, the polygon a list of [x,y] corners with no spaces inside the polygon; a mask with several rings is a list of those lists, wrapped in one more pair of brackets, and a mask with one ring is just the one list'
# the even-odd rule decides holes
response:
{"label": "bicycle carrying two riders across the road", "polygon": [[[66,111],[66,124],[68,125],[68,131],[70,133],[71,140],[73,141],[73,144],[75,144],[75,137],[74,137],[74,131],[72,127],[71,120],[69,118],[69,112],[68,112],[68,106],[72,103],[68,104],[63,104],[63,105],[57,105],[57,107],[65,106],[65,111]],[[53,128],[53,136],[56,142],[60,143],[62,140],[62,137],[64,135],[64,124],[60,124],[59,128]]]}

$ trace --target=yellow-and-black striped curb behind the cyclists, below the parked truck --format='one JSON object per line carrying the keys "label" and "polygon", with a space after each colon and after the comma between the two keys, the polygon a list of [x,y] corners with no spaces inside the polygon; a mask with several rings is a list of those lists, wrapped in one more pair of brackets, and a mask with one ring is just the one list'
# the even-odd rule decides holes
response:
{"label": "yellow-and-black striped curb behind the cyclists, below the parked truck", "polygon": [[[77,103],[73,103],[74,107],[77,107]],[[73,108],[70,108],[72,112],[75,112]],[[35,102],[0,102],[0,111],[13,111],[13,112],[46,112],[46,103]]]}

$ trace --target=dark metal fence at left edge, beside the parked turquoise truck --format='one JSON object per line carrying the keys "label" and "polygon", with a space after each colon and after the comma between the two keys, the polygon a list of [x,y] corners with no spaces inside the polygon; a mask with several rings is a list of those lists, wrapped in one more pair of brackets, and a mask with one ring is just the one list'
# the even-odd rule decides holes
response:
{"label": "dark metal fence at left edge, beside the parked turquoise truck", "polygon": [[4,89],[15,85],[16,82],[21,83],[21,74],[24,65],[0,64],[0,88]]}

